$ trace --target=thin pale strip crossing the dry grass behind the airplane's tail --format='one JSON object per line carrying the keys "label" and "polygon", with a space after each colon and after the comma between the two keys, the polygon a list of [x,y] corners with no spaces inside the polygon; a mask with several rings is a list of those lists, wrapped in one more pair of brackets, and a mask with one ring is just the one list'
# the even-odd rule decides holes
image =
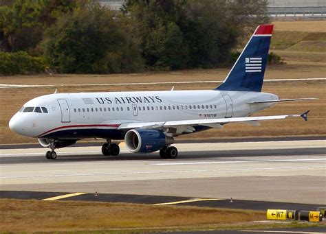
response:
{"label": "thin pale strip crossing the dry grass behind the airplane's tail", "polygon": [[[326,80],[326,78],[301,78],[301,79],[270,79],[264,82],[287,82],[305,80]],[[203,81],[175,81],[175,82],[142,82],[142,83],[104,83],[104,84],[0,84],[0,89],[10,88],[34,88],[34,87],[61,87],[61,86],[123,86],[123,85],[149,85],[149,84],[202,84],[202,83],[221,83],[222,80],[203,80]]]}

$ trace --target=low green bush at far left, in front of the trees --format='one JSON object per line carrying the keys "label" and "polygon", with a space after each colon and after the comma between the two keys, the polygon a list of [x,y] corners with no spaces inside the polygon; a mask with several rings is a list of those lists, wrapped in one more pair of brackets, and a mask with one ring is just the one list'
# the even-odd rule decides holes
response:
{"label": "low green bush at far left, in front of the trees", "polygon": [[41,73],[45,65],[40,57],[33,57],[26,52],[0,52],[0,75]]}

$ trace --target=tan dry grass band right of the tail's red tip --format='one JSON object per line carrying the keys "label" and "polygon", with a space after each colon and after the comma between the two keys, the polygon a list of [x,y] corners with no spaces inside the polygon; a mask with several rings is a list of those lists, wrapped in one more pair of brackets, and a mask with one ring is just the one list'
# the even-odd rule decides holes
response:
{"label": "tan dry grass band right of the tail's red tip", "polygon": [[326,32],[326,21],[274,21],[275,31]]}

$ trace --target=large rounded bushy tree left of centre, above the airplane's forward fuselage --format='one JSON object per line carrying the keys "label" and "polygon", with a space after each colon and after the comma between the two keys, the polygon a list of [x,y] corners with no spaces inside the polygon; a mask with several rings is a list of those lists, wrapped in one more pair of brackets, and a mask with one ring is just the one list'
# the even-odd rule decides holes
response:
{"label": "large rounded bushy tree left of centre, above the airplane's forward fuselage", "polygon": [[135,71],[142,60],[125,29],[109,8],[87,1],[47,30],[45,56],[63,73]]}

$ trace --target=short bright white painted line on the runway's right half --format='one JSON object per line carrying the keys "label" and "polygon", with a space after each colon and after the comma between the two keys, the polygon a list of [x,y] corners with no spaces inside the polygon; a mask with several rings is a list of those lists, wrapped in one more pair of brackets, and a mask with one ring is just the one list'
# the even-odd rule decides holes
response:
{"label": "short bright white painted line on the runway's right half", "polygon": [[263,163],[263,162],[296,162],[296,161],[325,161],[326,159],[270,159],[255,161],[206,161],[206,162],[189,162],[189,163],[155,163],[153,165],[196,165],[196,164],[219,164],[219,163]]}

